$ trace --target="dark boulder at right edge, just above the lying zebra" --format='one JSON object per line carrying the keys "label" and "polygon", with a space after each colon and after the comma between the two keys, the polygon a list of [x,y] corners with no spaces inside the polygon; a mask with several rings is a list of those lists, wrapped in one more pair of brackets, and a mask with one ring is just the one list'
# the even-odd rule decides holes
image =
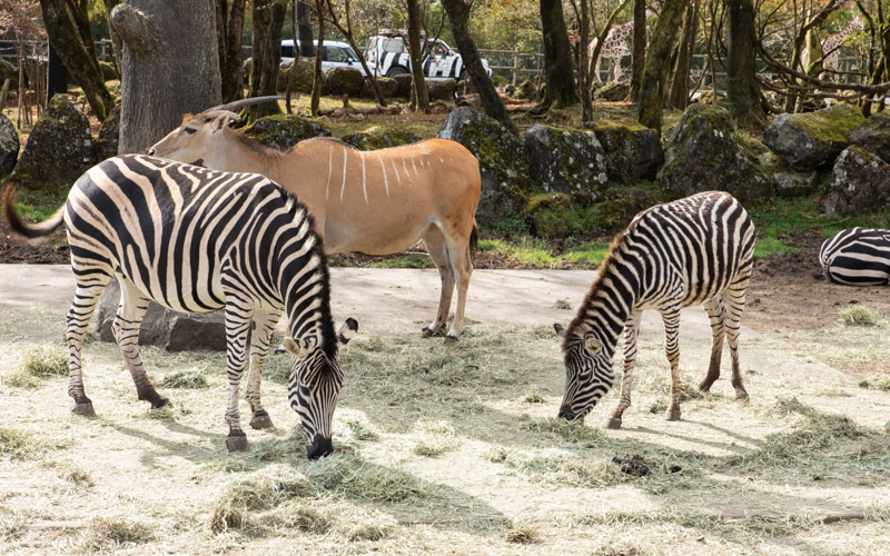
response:
{"label": "dark boulder at right edge, just above the lying zebra", "polygon": [[890,165],[858,145],[844,149],[834,162],[822,198],[827,215],[859,215],[890,203]]}

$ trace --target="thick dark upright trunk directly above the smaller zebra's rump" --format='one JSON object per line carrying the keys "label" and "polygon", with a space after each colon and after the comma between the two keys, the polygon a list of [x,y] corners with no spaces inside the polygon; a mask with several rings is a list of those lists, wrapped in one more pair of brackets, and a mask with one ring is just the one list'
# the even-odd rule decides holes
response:
{"label": "thick dark upright trunk directly above the smaller zebra's rump", "polygon": [[729,17],[726,96],[730,113],[745,126],[760,126],[767,118],[760,103],[760,85],[754,77],[754,3],[725,0]]}

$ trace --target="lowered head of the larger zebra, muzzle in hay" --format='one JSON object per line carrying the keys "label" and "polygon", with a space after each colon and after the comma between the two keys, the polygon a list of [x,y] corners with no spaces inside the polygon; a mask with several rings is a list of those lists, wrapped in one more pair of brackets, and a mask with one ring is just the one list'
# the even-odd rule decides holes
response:
{"label": "lowered head of the larger zebra, muzzle in hay", "polygon": [[281,346],[294,355],[288,380],[290,407],[299,415],[309,446],[306,455],[318,459],[334,453],[330,421],[337,396],[343,386],[343,369],[337,350],[358,330],[358,322],[349,318],[337,334],[337,346],[325,350],[315,336],[308,339],[285,338]]}

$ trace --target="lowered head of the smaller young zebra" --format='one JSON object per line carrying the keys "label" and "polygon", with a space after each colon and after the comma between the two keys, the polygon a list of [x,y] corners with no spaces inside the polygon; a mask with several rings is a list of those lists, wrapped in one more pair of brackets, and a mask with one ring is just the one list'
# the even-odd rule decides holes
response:
{"label": "lowered head of the smaller young zebra", "polygon": [[562,325],[553,325],[556,334],[564,338],[565,393],[560,406],[560,417],[566,420],[584,420],[593,406],[612,388],[612,349],[595,330],[570,331]]}

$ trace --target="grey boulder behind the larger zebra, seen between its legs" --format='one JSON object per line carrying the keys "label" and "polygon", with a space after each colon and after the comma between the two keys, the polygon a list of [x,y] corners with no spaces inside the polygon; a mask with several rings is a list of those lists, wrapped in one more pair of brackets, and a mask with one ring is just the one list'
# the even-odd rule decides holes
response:
{"label": "grey boulder behind the larger zebra, seen between its legs", "polygon": [[[111,280],[96,311],[96,329],[102,341],[115,341],[111,325],[120,300],[120,286]],[[185,314],[149,304],[139,329],[140,346],[157,346],[168,351],[195,349],[226,349],[226,320],[222,311]]]}

